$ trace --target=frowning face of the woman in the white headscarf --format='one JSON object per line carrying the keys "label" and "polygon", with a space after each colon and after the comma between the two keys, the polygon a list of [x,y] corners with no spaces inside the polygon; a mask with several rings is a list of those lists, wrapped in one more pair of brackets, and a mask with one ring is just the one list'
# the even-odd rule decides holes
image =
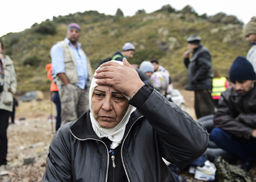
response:
{"label": "frowning face of the woman in the white headscarf", "polygon": [[93,116],[102,128],[114,128],[125,116],[128,100],[116,89],[99,85],[92,94]]}

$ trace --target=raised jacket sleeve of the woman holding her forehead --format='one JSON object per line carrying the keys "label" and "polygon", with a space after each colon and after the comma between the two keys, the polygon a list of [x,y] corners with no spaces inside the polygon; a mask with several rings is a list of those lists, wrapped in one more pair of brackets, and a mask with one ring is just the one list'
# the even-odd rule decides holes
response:
{"label": "raised jacket sleeve of the woman holding her forehead", "polygon": [[162,157],[169,162],[176,165],[189,163],[206,150],[209,142],[206,129],[156,90],[149,94],[145,102],[137,100],[134,106],[153,127]]}

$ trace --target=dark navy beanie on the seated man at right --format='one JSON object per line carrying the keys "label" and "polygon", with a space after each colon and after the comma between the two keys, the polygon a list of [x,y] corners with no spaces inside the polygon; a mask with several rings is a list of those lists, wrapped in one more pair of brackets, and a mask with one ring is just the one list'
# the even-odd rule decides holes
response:
{"label": "dark navy beanie on the seated man at right", "polygon": [[253,65],[246,58],[238,56],[230,67],[229,79],[231,82],[236,80],[256,80]]}

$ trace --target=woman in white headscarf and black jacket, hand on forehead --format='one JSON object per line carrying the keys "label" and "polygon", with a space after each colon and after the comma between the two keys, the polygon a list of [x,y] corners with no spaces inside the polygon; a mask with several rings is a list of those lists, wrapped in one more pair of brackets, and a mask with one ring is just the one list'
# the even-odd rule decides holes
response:
{"label": "woman in white headscarf and black jacket, hand on forehead", "polygon": [[126,61],[95,71],[90,111],[54,134],[42,181],[176,181],[162,157],[182,165],[208,146],[189,114],[145,85]]}

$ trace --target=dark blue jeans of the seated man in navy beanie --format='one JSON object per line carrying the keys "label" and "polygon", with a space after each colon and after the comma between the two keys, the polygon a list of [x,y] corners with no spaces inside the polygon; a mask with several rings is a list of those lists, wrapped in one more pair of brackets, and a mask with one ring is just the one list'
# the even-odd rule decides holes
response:
{"label": "dark blue jeans of the seated man in navy beanie", "polygon": [[249,162],[256,156],[256,138],[249,140],[234,136],[223,129],[214,128],[211,131],[210,139],[220,148],[234,155],[243,162]]}

